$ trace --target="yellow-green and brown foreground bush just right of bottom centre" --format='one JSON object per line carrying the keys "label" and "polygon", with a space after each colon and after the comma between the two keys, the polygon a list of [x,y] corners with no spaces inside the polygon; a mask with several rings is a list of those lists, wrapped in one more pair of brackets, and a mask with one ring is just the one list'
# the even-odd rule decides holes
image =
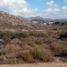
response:
{"label": "yellow-green and brown foreground bush just right of bottom centre", "polygon": [[34,48],[34,57],[41,62],[53,61],[53,54],[48,50],[43,51],[43,49],[40,49],[39,47]]}

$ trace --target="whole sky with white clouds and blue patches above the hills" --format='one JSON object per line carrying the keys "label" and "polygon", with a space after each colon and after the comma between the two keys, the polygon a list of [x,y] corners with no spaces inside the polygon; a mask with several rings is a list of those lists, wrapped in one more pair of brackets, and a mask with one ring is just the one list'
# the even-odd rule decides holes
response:
{"label": "whole sky with white clouds and blue patches above the hills", "polygon": [[67,18],[67,0],[0,0],[0,11],[22,17]]}

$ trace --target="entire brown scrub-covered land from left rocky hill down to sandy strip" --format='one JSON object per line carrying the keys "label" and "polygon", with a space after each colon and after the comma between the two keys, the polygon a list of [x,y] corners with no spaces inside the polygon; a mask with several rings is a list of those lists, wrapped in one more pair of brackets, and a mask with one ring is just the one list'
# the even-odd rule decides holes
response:
{"label": "entire brown scrub-covered land from left rocky hill down to sandy strip", "polygon": [[67,22],[50,25],[0,13],[0,64],[67,62]]}

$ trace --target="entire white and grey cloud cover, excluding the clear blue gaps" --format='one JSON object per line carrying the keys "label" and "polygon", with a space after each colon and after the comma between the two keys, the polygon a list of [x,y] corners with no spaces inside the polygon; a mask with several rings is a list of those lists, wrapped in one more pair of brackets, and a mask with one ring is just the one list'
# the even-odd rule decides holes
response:
{"label": "entire white and grey cloud cover, excluding the clear blue gaps", "polygon": [[[32,8],[27,0],[0,0],[0,11],[6,11],[18,16],[42,16],[50,18],[62,18],[67,16],[67,6],[59,6],[56,0],[40,0],[46,2],[42,10]],[[66,3],[66,1],[65,1]],[[35,4],[34,4],[35,5]]]}

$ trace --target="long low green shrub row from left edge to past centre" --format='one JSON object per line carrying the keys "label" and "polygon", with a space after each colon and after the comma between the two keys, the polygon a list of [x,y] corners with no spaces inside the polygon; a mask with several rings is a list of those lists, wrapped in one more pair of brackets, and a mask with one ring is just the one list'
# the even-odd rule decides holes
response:
{"label": "long low green shrub row from left edge to past centre", "polygon": [[30,32],[30,33],[25,33],[25,32],[2,32],[0,31],[0,38],[26,38],[28,36],[33,36],[33,37],[48,37],[48,33],[43,33],[43,32]]}

